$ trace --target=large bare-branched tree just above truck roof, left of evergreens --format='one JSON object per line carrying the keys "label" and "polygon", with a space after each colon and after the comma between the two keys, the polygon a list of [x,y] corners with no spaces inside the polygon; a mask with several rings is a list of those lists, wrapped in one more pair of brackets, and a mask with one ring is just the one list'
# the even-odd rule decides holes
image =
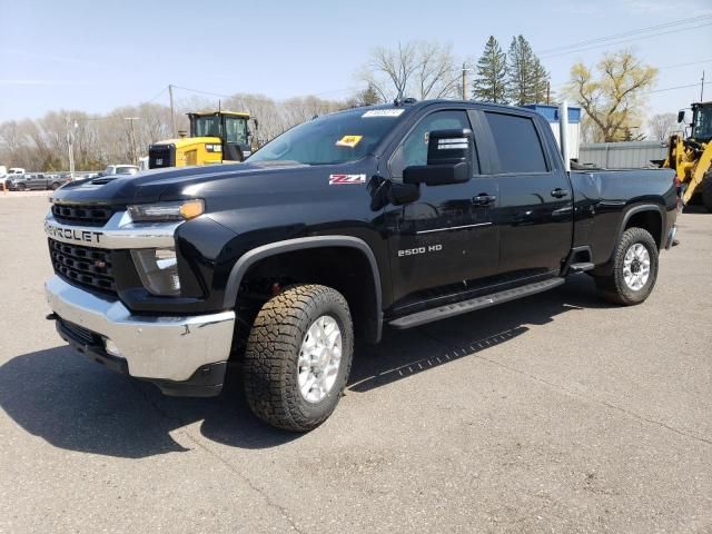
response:
{"label": "large bare-branched tree just above truck roof, left of evergreens", "polygon": [[458,96],[459,71],[452,47],[411,41],[396,49],[376,48],[358,78],[383,101],[395,97],[448,98]]}

